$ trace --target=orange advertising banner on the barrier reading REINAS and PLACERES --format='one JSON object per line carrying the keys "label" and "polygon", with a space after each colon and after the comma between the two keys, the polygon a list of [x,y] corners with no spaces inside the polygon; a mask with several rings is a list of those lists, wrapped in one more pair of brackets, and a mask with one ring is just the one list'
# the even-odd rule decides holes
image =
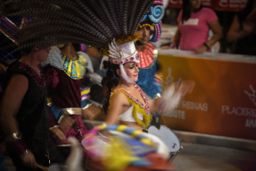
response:
{"label": "orange advertising banner on the barrier reading REINAS and PLACERES", "polygon": [[162,123],[170,129],[256,140],[256,62],[159,54],[163,88],[193,80]]}

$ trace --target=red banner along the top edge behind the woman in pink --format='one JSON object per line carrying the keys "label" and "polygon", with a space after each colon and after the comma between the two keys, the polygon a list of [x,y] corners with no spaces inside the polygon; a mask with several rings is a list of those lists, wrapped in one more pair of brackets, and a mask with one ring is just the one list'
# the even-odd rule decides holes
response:
{"label": "red banner along the top edge behind the woman in pink", "polygon": [[[213,10],[239,11],[246,7],[248,0],[202,0],[202,5]],[[169,0],[168,7],[182,8],[182,0]]]}

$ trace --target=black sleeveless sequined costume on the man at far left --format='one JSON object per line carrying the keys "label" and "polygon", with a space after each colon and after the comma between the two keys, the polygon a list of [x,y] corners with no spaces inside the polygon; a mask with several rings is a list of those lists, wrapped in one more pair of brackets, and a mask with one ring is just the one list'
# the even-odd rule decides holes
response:
{"label": "black sleeveless sequined costume on the man at far left", "polygon": [[[14,74],[22,74],[28,78],[29,88],[16,115],[19,130],[28,149],[33,152],[39,164],[48,166],[47,152],[49,152],[51,162],[62,163],[62,157],[57,153],[54,142],[48,137],[48,106],[44,75],[36,74],[25,62],[13,62],[8,68],[7,80],[10,80]],[[13,164],[18,169],[27,170],[28,168],[24,168],[19,155],[9,145],[9,143],[6,144]]]}

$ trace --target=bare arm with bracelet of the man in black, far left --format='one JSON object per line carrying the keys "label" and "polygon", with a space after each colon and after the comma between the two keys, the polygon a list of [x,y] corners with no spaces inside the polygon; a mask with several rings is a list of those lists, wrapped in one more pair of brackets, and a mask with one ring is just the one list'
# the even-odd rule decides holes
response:
{"label": "bare arm with bracelet of the man in black, far left", "polygon": [[22,100],[28,91],[28,79],[17,74],[10,82],[1,99],[1,127],[7,136],[8,143],[16,150],[22,163],[26,167],[36,168],[36,159],[25,144],[22,134],[19,132],[19,123],[16,114],[22,105]]}

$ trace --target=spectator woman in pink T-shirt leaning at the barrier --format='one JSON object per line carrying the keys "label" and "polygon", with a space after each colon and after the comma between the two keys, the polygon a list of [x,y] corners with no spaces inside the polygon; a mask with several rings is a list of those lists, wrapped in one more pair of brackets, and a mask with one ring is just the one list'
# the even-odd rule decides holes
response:
{"label": "spectator woman in pink T-shirt leaning at the barrier", "polygon": [[[178,29],[170,46],[165,48],[179,48],[195,51],[196,54],[211,51],[211,46],[222,38],[223,32],[217,15],[208,7],[202,7],[201,0],[183,0],[183,7],[177,21]],[[208,39],[209,30],[214,32]]]}

